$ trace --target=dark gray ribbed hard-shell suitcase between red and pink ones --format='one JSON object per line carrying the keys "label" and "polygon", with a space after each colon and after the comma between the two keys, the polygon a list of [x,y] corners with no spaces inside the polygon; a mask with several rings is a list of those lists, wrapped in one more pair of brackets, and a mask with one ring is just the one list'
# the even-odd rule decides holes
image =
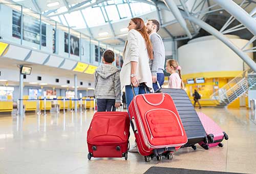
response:
{"label": "dark gray ribbed hard-shell suitcase between red and pink ones", "polygon": [[197,112],[187,96],[187,93],[181,89],[162,88],[162,93],[169,94],[177,107],[182,124],[184,126],[187,143],[182,147],[192,147],[196,150],[195,144],[202,141],[208,142],[204,127],[197,115]]}

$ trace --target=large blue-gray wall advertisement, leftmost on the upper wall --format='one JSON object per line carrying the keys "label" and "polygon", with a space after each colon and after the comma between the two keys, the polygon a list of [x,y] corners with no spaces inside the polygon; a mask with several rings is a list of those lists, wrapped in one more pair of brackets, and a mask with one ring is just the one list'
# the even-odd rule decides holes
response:
{"label": "large blue-gray wall advertisement, leftmost on the upper wall", "polygon": [[[20,38],[21,13],[12,11],[12,36]],[[46,24],[41,24],[41,46],[46,47]],[[23,15],[23,39],[40,44],[40,20]]]}

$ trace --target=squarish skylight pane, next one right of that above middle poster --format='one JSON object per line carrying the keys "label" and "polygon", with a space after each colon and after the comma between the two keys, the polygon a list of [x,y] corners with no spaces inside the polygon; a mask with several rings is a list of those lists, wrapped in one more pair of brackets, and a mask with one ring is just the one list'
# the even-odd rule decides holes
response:
{"label": "squarish skylight pane, next one right of that above middle poster", "polygon": [[[105,19],[99,7],[86,8],[82,10],[82,13],[84,15],[84,18],[86,18],[86,21],[89,27],[102,25],[105,23]],[[91,16],[94,16],[94,17],[91,17]]]}

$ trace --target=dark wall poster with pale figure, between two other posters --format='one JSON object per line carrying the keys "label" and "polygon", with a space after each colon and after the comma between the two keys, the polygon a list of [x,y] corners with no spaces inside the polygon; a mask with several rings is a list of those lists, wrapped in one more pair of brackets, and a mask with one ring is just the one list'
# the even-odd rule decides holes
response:
{"label": "dark wall poster with pale figure, between two other posters", "polygon": [[[69,52],[69,33],[65,33],[65,52]],[[70,35],[70,54],[79,56],[79,38]]]}

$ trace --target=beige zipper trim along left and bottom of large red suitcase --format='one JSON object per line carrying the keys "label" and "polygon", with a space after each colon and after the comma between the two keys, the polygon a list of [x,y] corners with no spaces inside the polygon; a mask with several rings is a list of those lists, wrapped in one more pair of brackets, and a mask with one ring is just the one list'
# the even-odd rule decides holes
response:
{"label": "beige zipper trim along left and bottom of large red suitcase", "polygon": [[[141,131],[143,141],[144,141],[145,145],[146,145],[148,148],[177,147],[177,146],[182,146],[182,145],[184,145],[184,144],[187,143],[187,142],[186,142],[186,143],[181,143],[181,144],[169,144],[169,145],[161,145],[161,146],[154,146],[154,145],[152,145],[152,144],[148,141],[147,136],[146,136],[146,134],[145,134],[145,128],[144,128],[144,125],[143,125],[142,120],[141,120],[141,118],[140,118],[140,114],[139,114],[139,111],[138,111],[138,105],[137,105],[137,102],[136,102],[137,97],[138,97],[138,96],[135,96],[135,97],[134,97],[134,100],[135,100],[135,102],[134,102],[135,111],[136,111],[136,115],[137,115],[137,118],[138,118],[139,126],[143,129],[143,131]],[[167,110],[167,111],[170,111],[170,110]],[[175,115],[176,115],[176,114],[175,114]],[[178,122],[179,122],[179,121],[178,121]],[[180,122],[179,122],[179,124],[180,124]],[[181,125],[180,125],[180,126],[181,126]],[[181,128],[181,130],[182,130],[182,128]],[[150,132],[151,132],[151,131],[150,131]],[[183,131],[182,131],[182,134],[183,134]],[[153,137],[152,133],[151,133],[151,136]],[[153,138],[154,138],[154,137],[153,137]]]}

